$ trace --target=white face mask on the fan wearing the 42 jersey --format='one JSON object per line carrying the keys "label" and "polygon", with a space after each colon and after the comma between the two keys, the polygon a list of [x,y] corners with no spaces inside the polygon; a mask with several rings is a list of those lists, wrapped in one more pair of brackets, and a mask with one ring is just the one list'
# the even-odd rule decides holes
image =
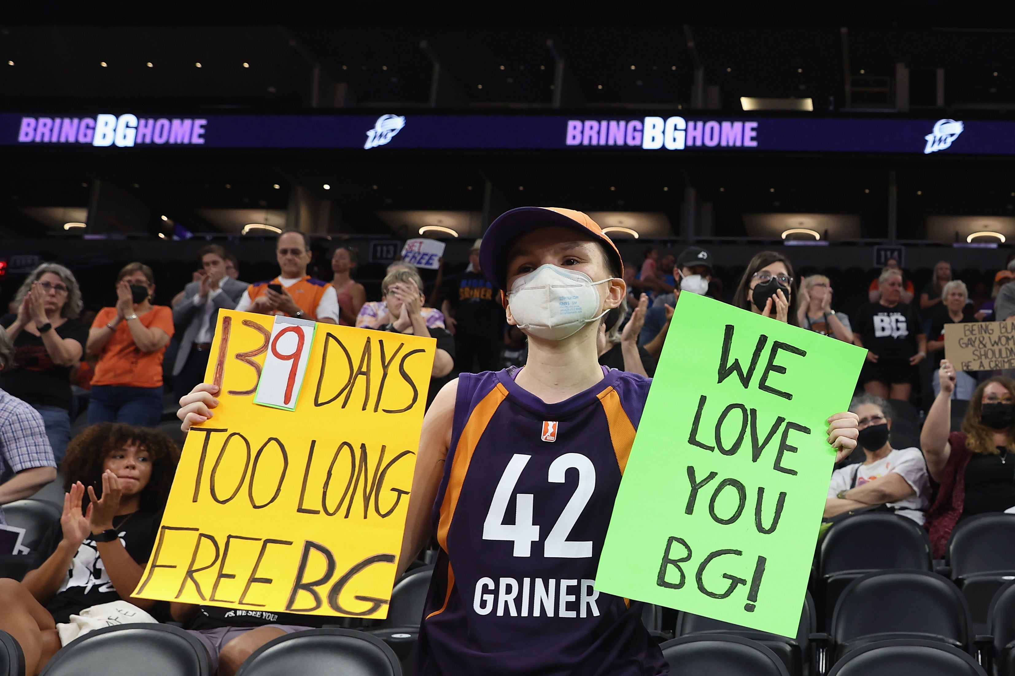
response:
{"label": "white face mask on the fan wearing the 42 jersey", "polygon": [[602,301],[595,287],[611,279],[593,282],[585,273],[547,264],[515,280],[507,303],[519,328],[562,341],[609,311],[599,311]]}

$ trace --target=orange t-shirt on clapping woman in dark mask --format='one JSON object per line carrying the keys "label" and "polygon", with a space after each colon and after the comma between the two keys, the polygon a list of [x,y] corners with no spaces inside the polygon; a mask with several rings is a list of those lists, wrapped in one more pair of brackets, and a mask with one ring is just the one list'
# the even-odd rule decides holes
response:
{"label": "orange t-shirt on clapping woman in dark mask", "polygon": [[[117,308],[104,307],[98,311],[91,327],[105,326],[116,317]],[[173,335],[173,310],[165,305],[154,305],[144,314],[139,314],[137,318],[147,328],[161,328],[166,334]],[[95,364],[95,374],[91,377],[91,384],[92,386],[161,387],[163,354],[165,347],[155,352],[138,350],[134,344],[134,335],[130,332],[130,326],[126,321],[121,321],[98,354],[98,363]]]}

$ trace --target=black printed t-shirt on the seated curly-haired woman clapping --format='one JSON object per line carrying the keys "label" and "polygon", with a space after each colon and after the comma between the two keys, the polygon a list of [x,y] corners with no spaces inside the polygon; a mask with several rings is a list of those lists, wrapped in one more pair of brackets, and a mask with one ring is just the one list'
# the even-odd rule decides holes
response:
{"label": "black printed t-shirt on the seated curly-haired woman clapping", "polygon": [[[151,555],[151,547],[161,520],[161,512],[147,511],[137,511],[113,520],[113,527],[119,532],[120,541],[127,553],[141,566]],[[63,528],[57,521],[43,537],[39,548],[32,552],[38,553],[40,564],[53,555],[62,539]],[[74,553],[60,589],[45,605],[57,622],[69,622],[71,615],[78,615],[85,608],[120,599],[121,596],[113,587],[110,575],[98,555],[98,545],[89,534]]]}

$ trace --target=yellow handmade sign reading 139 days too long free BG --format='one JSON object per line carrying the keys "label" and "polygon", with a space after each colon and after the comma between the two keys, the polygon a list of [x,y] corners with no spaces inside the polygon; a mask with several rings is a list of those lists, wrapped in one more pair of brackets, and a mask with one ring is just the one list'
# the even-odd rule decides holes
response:
{"label": "yellow handmade sign reading 139 days too long free BG", "polygon": [[[304,336],[293,410],[257,405],[272,345]],[[221,310],[205,379],[135,595],[246,611],[386,617],[435,341]],[[290,331],[290,335],[292,331]],[[292,335],[295,340],[295,335]],[[285,397],[288,380],[276,386]]]}

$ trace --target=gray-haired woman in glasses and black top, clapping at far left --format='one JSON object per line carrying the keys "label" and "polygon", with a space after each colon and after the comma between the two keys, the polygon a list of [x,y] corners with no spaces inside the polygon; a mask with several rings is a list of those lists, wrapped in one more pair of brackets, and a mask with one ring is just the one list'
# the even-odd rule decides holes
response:
{"label": "gray-haired woman in glasses and black top, clapping at far left", "polygon": [[59,464],[70,443],[70,372],[88,342],[88,327],[77,318],[81,291],[73,273],[44,262],[24,280],[14,303],[17,313],[0,318],[14,344],[14,364],[0,374],[0,388],[43,417]]}

